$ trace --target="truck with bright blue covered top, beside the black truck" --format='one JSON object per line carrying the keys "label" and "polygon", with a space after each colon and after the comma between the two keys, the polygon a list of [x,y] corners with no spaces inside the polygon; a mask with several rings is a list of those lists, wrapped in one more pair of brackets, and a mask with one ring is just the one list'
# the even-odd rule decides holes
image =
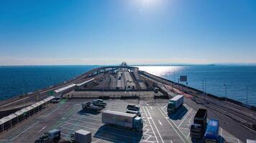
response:
{"label": "truck with bright blue covered top, beside the black truck", "polygon": [[218,142],[218,137],[219,120],[210,119],[206,127],[206,133],[204,134],[204,142]]}

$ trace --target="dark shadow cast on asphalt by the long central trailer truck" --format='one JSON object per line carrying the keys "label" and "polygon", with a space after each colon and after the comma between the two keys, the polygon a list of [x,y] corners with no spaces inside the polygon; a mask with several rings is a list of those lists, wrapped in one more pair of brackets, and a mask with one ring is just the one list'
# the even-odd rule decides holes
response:
{"label": "dark shadow cast on asphalt by the long central trailer truck", "polygon": [[123,127],[114,127],[104,124],[98,131],[93,135],[93,137],[103,139],[109,142],[140,142],[142,137],[142,132],[134,132],[130,129],[125,129]]}

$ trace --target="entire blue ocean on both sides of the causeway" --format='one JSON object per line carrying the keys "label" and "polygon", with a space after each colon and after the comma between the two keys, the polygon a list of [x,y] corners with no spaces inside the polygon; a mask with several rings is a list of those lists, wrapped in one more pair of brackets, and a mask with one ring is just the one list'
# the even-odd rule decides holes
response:
{"label": "entire blue ocean on both sides of the causeway", "polygon": [[[99,66],[0,66],[0,100],[33,92],[77,77]],[[256,105],[256,66],[138,66],[139,69],[178,82],[188,77],[190,87],[203,89],[219,97]],[[226,85],[226,86],[224,86]],[[248,99],[248,100],[247,100]]]}

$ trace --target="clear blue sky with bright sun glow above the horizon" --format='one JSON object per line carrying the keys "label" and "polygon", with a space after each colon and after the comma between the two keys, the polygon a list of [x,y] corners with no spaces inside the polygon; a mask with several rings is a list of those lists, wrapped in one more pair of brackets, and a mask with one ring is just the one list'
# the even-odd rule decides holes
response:
{"label": "clear blue sky with bright sun glow above the horizon", "polygon": [[255,0],[0,1],[0,65],[256,63],[255,54]]}

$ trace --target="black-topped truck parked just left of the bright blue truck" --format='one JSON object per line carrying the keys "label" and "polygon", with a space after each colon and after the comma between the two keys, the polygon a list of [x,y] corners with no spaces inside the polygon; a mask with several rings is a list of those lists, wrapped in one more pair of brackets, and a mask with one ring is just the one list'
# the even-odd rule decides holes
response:
{"label": "black-topped truck parked just left of the bright blue truck", "polygon": [[202,139],[204,138],[204,132],[207,125],[207,109],[198,109],[195,117],[193,118],[193,124],[191,124],[191,138]]}

